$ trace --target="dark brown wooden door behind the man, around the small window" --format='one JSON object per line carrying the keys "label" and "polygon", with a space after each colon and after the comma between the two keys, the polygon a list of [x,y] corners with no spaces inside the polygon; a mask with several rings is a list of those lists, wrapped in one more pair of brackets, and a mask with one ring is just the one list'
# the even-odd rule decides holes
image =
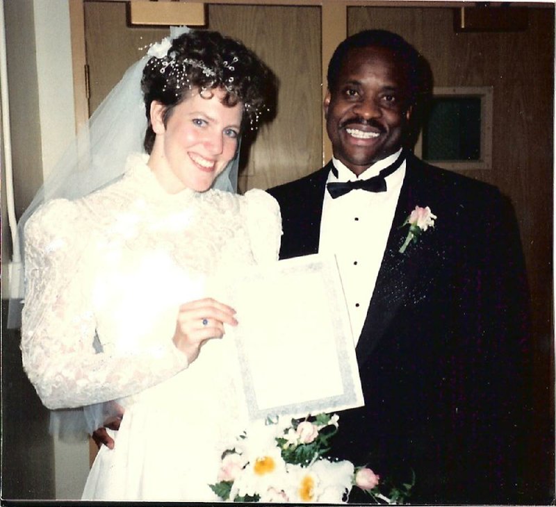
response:
{"label": "dark brown wooden door behind the man, around the small window", "polygon": [[[491,169],[459,171],[498,186],[516,210],[532,293],[532,484],[553,483],[554,6],[528,8],[525,31],[456,33],[454,8],[348,8],[348,33],[400,33],[427,58],[434,85],[491,86]],[[477,471],[478,472],[478,471]],[[479,472],[480,473],[480,472]]]}

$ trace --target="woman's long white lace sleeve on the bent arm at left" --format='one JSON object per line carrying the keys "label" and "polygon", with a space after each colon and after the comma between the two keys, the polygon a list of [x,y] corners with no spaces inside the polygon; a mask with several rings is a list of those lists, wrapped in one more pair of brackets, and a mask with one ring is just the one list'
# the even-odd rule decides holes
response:
{"label": "woman's long white lace sleeve on the bent arm at left", "polygon": [[26,225],[22,359],[47,408],[117,399],[187,367],[172,341],[133,354],[95,351],[95,315],[86,224],[76,204],[48,203]]}

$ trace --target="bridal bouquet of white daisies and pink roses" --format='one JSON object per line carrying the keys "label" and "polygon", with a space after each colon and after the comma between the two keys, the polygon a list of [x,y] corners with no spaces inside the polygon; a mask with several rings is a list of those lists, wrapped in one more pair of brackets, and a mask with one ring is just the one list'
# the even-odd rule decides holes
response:
{"label": "bridal bouquet of white daisies and pink roses", "polygon": [[386,496],[370,468],[325,457],[338,419],[319,414],[255,422],[222,454],[219,482],[211,489],[224,501],[340,504],[355,485],[377,504],[402,504],[413,484],[389,488]]}

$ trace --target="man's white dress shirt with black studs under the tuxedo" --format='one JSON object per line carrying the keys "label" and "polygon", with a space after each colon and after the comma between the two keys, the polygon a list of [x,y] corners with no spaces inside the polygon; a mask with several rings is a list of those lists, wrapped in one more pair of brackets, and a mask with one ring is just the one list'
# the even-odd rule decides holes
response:
{"label": "man's white dress shirt with black studs under the tuxedo", "polygon": [[[331,171],[327,183],[366,180],[377,176],[382,169],[395,162],[400,152],[401,149],[371,165],[359,178],[333,158],[338,177]],[[332,199],[328,190],[325,190],[318,251],[334,253],[336,256],[354,344],[359,340],[367,316],[404,176],[405,160],[393,174],[386,176],[386,192],[352,190]]]}

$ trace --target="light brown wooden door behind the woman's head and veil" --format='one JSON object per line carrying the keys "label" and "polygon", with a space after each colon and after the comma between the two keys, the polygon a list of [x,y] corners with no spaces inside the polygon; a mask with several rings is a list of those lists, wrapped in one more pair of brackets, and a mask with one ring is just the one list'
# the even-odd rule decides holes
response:
{"label": "light brown wooden door behind the woman's head and veil", "polygon": [[[168,30],[127,26],[125,2],[85,1],[84,6],[92,113],[126,68]],[[318,169],[322,165],[320,8],[209,5],[207,19],[206,28],[243,41],[279,79],[279,121],[263,125],[256,142],[243,147],[240,190],[268,188]]]}

